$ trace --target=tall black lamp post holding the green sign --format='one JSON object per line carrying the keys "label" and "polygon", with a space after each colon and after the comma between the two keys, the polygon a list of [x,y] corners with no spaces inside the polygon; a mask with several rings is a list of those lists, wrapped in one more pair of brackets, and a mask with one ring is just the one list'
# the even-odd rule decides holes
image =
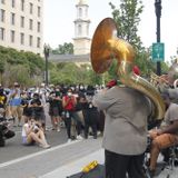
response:
{"label": "tall black lamp post holding the green sign", "polygon": [[[160,42],[160,17],[161,17],[161,0],[155,0],[155,12],[157,17],[157,42]],[[157,75],[161,75],[160,61],[157,61]]]}

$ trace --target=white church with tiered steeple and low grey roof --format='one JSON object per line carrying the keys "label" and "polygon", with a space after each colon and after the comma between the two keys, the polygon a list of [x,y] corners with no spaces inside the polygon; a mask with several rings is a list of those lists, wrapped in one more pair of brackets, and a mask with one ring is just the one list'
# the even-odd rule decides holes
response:
{"label": "white church with tiered steeple and low grey roof", "polygon": [[73,55],[50,55],[49,59],[55,62],[90,62],[90,46],[91,39],[89,38],[88,18],[88,3],[87,0],[78,0],[76,4],[77,18],[75,20],[75,37],[73,37]]}

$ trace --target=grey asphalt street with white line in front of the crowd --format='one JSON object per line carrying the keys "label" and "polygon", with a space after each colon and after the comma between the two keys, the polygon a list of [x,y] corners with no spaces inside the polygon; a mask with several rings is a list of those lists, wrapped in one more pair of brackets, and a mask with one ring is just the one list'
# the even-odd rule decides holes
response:
{"label": "grey asphalt street with white line in front of the crowd", "polygon": [[[16,137],[7,140],[6,147],[0,147],[0,178],[66,178],[95,159],[103,164],[101,137],[67,144],[65,128],[61,132],[50,130],[47,139],[52,147],[42,149],[22,146],[20,129],[16,130]],[[169,174],[169,178],[178,178],[177,167],[174,170],[159,169],[157,178],[168,178]]]}

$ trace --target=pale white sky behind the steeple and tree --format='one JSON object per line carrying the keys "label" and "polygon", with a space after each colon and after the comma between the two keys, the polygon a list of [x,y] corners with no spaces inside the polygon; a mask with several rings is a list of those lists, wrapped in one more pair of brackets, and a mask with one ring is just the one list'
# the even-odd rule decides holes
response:
{"label": "pale white sky behind the steeple and tree", "polygon": [[[165,43],[165,60],[169,61],[170,56],[176,56],[178,48],[178,0],[161,0],[160,18],[160,42]],[[99,22],[111,16],[109,2],[112,2],[117,9],[120,0],[87,0],[88,18],[90,19],[89,36],[92,34]],[[44,0],[43,9],[43,42],[52,48],[65,42],[73,42],[75,23],[77,19],[76,4],[78,0]],[[142,0],[145,6],[140,18],[138,34],[146,48],[152,42],[157,42],[156,34],[156,14],[155,0]]]}

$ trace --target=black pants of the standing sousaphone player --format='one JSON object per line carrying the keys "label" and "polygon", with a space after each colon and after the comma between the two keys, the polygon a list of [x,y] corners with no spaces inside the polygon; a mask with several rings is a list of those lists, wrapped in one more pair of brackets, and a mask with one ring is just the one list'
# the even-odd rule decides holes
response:
{"label": "black pants of the standing sousaphone player", "polygon": [[144,154],[125,156],[105,150],[106,178],[146,178],[142,169]]}

